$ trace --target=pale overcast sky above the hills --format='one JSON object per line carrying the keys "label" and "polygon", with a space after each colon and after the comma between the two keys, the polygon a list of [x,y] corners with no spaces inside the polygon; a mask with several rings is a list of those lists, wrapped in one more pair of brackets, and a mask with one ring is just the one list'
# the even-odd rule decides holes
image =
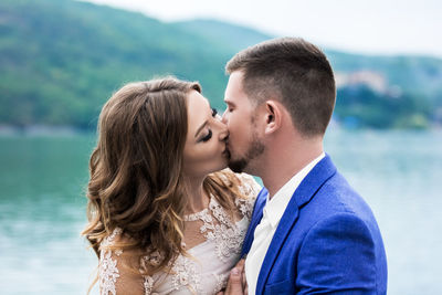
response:
{"label": "pale overcast sky above the hills", "polygon": [[87,0],[162,20],[213,18],[327,49],[442,57],[441,0]]}

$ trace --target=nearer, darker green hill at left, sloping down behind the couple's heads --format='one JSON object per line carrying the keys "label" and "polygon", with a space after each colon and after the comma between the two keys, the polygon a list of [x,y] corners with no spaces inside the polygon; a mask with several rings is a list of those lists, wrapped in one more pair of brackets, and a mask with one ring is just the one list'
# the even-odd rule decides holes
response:
{"label": "nearer, darker green hill at left, sloping down behind the couple's heads", "polygon": [[102,104],[125,82],[167,74],[199,80],[206,95],[220,98],[229,55],[139,13],[70,0],[3,0],[0,122],[93,128]]}

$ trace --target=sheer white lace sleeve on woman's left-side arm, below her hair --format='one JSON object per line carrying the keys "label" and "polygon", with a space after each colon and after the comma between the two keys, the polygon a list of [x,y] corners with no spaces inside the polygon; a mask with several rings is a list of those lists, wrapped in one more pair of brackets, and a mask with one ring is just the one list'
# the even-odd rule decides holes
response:
{"label": "sheer white lace sleeve on woman's left-side arm, below her hair", "polygon": [[101,295],[145,295],[151,294],[154,280],[136,272],[139,263],[137,253],[133,251],[109,250],[118,229],[102,243],[98,266],[98,284]]}

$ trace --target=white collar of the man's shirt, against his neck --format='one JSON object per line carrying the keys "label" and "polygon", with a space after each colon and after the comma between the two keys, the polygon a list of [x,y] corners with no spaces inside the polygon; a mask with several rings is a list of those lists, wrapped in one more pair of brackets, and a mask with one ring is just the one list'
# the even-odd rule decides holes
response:
{"label": "white collar of the man's shirt, against his neck", "polygon": [[269,199],[263,209],[263,215],[270,222],[273,228],[276,228],[280,223],[281,218],[284,214],[285,208],[287,207],[290,200],[292,199],[293,193],[301,185],[303,179],[308,175],[308,172],[325,157],[325,154],[322,152],[316,159],[306,165],[301,171],[294,175],[285,185],[273,196],[272,199]]}

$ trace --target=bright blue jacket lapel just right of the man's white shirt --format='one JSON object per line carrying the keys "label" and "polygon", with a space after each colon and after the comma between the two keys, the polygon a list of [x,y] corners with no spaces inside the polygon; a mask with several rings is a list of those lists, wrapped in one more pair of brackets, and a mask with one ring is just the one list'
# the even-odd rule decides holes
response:
{"label": "bright blue jacket lapel just right of the man's white shirt", "polygon": [[272,242],[269,246],[267,253],[261,266],[256,284],[256,294],[263,294],[264,285],[269,278],[275,260],[281,252],[281,247],[288,236],[288,233],[292,231],[292,228],[296,224],[299,209],[306,206],[312,200],[316,191],[324,185],[324,182],[335,173],[336,167],[333,165],[330,158],[327,155],[312,169],[312,171],[304,178],[299,187],[293,193],[292,199],[288,202],[288,206],[280,220],[275,234],[273,235]]}

